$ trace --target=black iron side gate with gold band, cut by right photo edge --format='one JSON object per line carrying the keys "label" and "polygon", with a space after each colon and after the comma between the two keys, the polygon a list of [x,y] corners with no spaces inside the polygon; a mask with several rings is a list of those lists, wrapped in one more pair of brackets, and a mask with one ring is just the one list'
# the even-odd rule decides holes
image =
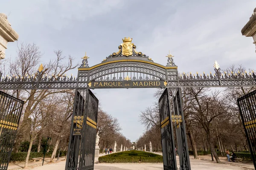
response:
{"label": "black iron side gate with gold band, cut by right photo edge", "polygon": [[247,143],[256,169],[256,91],[237,99]]}

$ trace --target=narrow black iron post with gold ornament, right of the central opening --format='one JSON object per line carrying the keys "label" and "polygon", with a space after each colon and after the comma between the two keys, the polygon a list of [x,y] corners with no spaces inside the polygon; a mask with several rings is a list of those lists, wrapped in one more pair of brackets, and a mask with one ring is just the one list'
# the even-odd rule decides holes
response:
{"label": "narrow black iron post with gold ornament, right of the central opening", "polygon": [[172,122],[176,122],[180,170],[191,170],[180,88],[177,89],[177,93],[173,99],[173,104],[174,115],[172,115]]}

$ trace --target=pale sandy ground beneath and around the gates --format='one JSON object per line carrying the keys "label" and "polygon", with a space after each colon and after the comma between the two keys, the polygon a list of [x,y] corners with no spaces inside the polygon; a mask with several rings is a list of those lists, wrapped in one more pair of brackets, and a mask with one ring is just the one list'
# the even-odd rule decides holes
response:
{"label": "pale sandy ground beneath and around the gates", "polygon": [[[102,156],[102,154],[100,155]],[[217,164],[210,161],[210,156],[200,156],[200,159],[190,159],[192,170],[254,170],[252,162],[239,163],[228,162],[225,158],[221,158],[223,163]],[[28,170],[64,170],[65,161],[49,164],[49,160],[46,159],[44,166],[41,166],[42,162],[29,163]],[[96,164],[94,170],[163,170],[163,164],[153,163],[127,163],[127,164],[102,164],[97,163],[98,158],[95,158]],[[177,160],[178,162],[178,160]],[[10,163],[8,170],[21,170],[24,165],[21,163]],[[32,166],[32,167],[31,167]]]}

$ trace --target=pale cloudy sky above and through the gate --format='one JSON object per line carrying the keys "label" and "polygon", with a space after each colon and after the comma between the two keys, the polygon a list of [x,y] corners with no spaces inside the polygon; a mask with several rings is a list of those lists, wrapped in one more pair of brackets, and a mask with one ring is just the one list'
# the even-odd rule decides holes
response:
{"label": "pale cloudy sky above and through the gate", "polygon": [[[137,51],[166,65],[169,50],[180,72],[209,73],[217,60],[221,69],[242,64],[256,68],[252,37],[241,35],[256,7],[255,0],[0,0],[19,34],[9,42],[6,59],[16,57],[17,45],[35,43],[81,63],[85,51],[90,66],[118,51],[123,37],[132,37]],[[39,66],[39,65],[38,65]],[[76,75],[76,70],[73,71]],[[132,142],[144,131],[140,111],[152,105],[155,89],[96,89],[101,107],[119,119],[122,133]]]}

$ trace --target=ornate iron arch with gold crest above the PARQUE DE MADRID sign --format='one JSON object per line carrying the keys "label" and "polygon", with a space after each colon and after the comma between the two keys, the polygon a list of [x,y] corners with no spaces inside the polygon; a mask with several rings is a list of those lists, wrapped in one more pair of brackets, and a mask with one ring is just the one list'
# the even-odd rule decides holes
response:
{"label": "ornate iron arch with gold crest above the PARQUE DE MADRID sign", "polygon": [[131,40],[125,37],[118,52],[91,67],[88,65],[89,57],[85,55],[78,68],[78,88],[85,88],[91,81],[124,81],[127,77],[133,81],[177,81],[177,66],[171,57],[166,66],[158,64],[142,52],[137,52]]}

